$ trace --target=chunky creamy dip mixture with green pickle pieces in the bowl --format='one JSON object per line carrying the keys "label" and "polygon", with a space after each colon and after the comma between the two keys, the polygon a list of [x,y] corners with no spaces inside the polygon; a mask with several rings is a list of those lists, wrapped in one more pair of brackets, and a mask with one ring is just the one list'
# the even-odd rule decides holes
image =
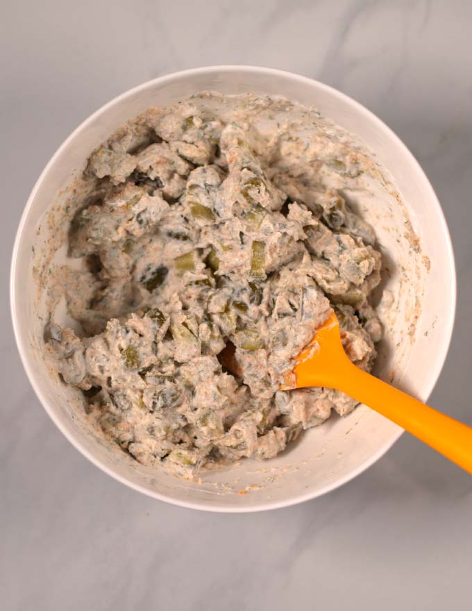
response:
{"label": "chunky creamy dip mixture with green pickle pieces in the bowl", "polygon": [[[203,93],[115,133],[88,162],[58,276],[78,326],[51,317],[46,333],[88,417],[188,475],[272,458],[353,410],[336,390],[278,389],[332,309],[349,358],[373,364],[380,253],[348,194],[377,173],[351,135],[281,98]],[[228,345],[239,375],[219,361]]]}

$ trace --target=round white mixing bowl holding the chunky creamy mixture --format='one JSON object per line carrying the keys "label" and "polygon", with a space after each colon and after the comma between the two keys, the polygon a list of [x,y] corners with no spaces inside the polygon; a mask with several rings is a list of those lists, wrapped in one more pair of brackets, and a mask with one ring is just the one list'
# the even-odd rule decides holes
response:
{"label": "round white mixing bowl holding the chunky creamy mixture", "polygon": [[401,428],[361,405],[345,418],[332,417],[308,430],[273,460],[243,460],[203,474],[200,481],[179,480],[103,444],[87,427],[77,390],[60,383],[42,358],[46,312],[34,267],[41,265],[41,249],[54,237],[51,231],[57,231],[45,212],[53,203],[65,205],[67,187],[81,175],[92,150],[117,127],[146,108],[167,106],[202,90],[280,94],[314,106],[357,134],[389,170],[421,251],[412,248],[412,231],[398,201],[360,203],[376,228],[389,267],[385,287],[393,298],[384,308],[387,336],[379,347],[376,373],[385,379],[393,375],[395,385],[428,399],[446,358],[455,312],[453,251],[435,192],[410,151],[369,110],[322,83],[274,69],[213,66],[163,76],[122,94],[83,122],[51,158],[26,203],[12,256],[13,326],[26,374],[44,409],[67,439],[110,476],[155,499],[194,509],[280,508],[351,480],[389,449]]}

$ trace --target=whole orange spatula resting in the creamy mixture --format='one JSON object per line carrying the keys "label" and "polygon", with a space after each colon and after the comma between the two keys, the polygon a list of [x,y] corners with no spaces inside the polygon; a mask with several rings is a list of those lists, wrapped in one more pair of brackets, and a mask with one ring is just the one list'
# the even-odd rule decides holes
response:
{"label": "whole orange spatula resting in the creamy mixture", "polygon": [[472,474],[472,428],[356,367],[344,352],[334,312],[296,358],[284,390],[310,386],[346,392]]}

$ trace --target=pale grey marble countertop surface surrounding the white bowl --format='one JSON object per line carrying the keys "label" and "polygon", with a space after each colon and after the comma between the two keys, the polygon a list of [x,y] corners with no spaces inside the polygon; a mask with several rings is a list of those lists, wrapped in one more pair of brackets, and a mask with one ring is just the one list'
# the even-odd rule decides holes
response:
{"label": "pale grey marble countertop surface surrounding the white bowl", "polygon": [[19,362],[12,242],[35,180],[87,115],[149,78],[268,65],[376,112],[435,187],[457,259],[457,322],[430,403],[472,425],[472,4],[107,0],[2,9],[0,592],[5,610],[470,609],[472,480],[403,435],[320,499],[246,515],[153,501],[87,462]]}

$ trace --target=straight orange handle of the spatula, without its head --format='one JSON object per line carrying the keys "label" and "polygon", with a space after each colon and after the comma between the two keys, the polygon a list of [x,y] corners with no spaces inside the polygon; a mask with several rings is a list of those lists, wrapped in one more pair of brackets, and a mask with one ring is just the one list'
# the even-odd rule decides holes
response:
{"label": "straight orange handle of the spatula, without its head", "polygon": [[472,428],[359,369],[346,358],[338,390],[418,437],[472,474]]}

